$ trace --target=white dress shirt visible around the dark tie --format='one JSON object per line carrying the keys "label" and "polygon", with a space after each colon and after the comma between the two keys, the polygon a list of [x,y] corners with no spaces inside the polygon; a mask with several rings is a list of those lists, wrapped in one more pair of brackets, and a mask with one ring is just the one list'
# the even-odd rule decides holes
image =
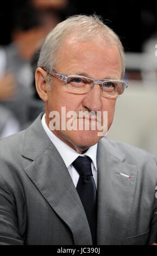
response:
{"label": "white dress shirt visible around the dark tie", "polygon": [[62,157],[62,160],[65,162],[65,165],[68,169],[68,172],[71,175],[74,186],[75,187],[77,186],[77,183],[79,180],[79,174],[77,170],[72,166],[72,163],[74,160],[77,159],[78,156],[89,156],[90,159],[92,160],[91,162],[92,174],[97,187],[97,145],[98,144],[95,144],[92,147],[90,147],[84,154],[79,154],[77,153],[76,150],[72,149],[70,146],[68,146],[63,141],[61,141],[61,139],[56,137],[54,133],[48,128],[45,120],[45,114],[43,114],[41,123],[42,123],[43,129],[47,133],[47,136],[52,141],[55,148],[58,150],[59,154]]}

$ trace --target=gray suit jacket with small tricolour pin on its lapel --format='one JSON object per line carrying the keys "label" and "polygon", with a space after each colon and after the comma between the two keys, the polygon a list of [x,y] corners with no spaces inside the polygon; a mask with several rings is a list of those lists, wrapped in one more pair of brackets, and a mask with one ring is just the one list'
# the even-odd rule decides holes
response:
{"label": "gray suit jacket with small tricolour pin on its lapel", "polygon": [[[77,190],[41,116],[0,141],[0,245],[92,245]],[[103,138],[97,166],[98,245],[156,241],[155,157]]]}

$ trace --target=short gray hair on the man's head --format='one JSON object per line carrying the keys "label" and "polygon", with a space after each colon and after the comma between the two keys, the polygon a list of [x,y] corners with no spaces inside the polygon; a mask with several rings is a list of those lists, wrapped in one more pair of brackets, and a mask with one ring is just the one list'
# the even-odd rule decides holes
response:
{"label": "short gray hair on the man's head", "polygon": [[[125,72],[124,49],[120,38],[111,28],[103,23],[97,15],[73,15],[65,21],[58,23],[55,28],[47,35],[40,51],[37,66],[52,72],[59,60],[59,48],[66,40],[67,36],[72,35],[75,40],[103,39],[104,42],[116,44],[121,56],[122,78]],[[47,82],[50,80],[47,76]]]}

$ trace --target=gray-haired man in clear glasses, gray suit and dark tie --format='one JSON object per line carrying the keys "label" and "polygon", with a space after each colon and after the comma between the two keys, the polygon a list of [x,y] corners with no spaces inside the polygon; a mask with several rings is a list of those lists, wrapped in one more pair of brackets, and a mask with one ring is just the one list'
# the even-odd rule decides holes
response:
{"label": "gray-haired man in clear glasses, gray suit and dark tie", "polygon": [[1,245],[156,242],[156,159],[103,136],[123,76],[121,42],[97,16],[49,33],[35,73],[45,113],[0,143]]}

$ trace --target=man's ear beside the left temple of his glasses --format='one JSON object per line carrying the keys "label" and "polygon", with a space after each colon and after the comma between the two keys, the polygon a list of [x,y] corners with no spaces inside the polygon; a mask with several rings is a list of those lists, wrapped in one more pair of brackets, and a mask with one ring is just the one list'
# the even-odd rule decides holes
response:
{"label": "man's ear beside the left temple of his glasses", "polygon": [[36,90],[37,90],[37,93],[39,94],[39,97],[45,102],[48,99],[47,88],[46,88],[46,75],[47,75],[47,72],[42,68],[37,68],[35,71]]}

